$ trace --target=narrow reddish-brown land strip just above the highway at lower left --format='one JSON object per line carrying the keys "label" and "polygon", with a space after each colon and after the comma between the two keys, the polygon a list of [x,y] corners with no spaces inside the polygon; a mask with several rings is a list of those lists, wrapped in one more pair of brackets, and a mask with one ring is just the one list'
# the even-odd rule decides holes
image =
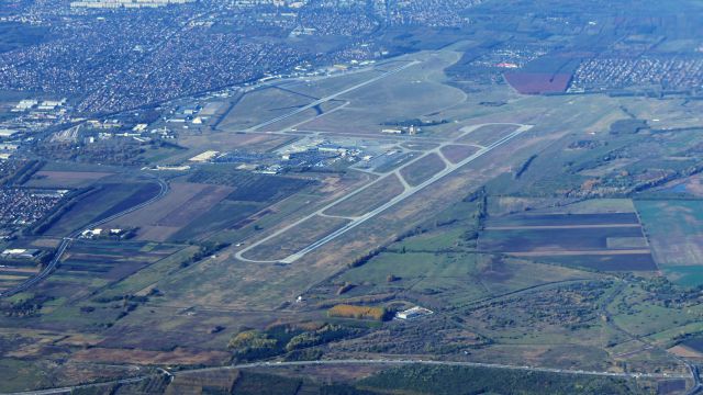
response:
{"label": "narrow reddish-brown land strip just above the highway at lower left", "polygon": [[91,348],[80,350],[72,360],[79,362],[136,363],[136,364],[217,364],[230,358],[224,351],[148,351],[140,349]]}

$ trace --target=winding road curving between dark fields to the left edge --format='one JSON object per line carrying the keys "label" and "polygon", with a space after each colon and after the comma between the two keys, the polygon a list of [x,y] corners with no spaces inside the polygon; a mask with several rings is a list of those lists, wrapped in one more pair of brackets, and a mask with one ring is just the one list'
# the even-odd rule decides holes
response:
{"label": "winding road curving between dark fields to the left edge", "polygon": [[168,193],[168,184],[161,180],[161,179],[156,179],[160,190],[158,192],[158,194],[143,203],[140,203],[135,206],[132,206],[125,211],[122,211],[120,213],[116,213],[114,215],[111,215],[107,218],[100,219],[100,221],[96,221],[94,223],[88,224],[87,226],[71,233],[70,235],[68,235],[67,237],[64,237],[62,239],[62,242],[58,245],[58,247],[56,248],[56,252],[54,253],[54,258],[52,258],[52,260],[48,262],[48,264],[46,266],[46,268],[44,268],[38,274],[36,274],[35,276],[29,279],[27,281],[23,282],[22,284],[19,284],[12,289],[5,290],[4,292],[0,293],[0,297],[8,297],[8,296],[12,296],[16,293],[20,292],[24,292],[26,290],[29,290],[30,287],[36,285],[37,283],[40,283],[41,281],[43,281],[44,279],[46,279],[47,276],[49,276],[49,274],[52,274],[52,272],[54,271],[54,269],[56,269],[56,267],[58,266],[58,263],[62,260],[62,257],[64,256],[64,252],[66,251],[66,249],[68,248],[68,246],[70,245],[70,242],[78,236],[80,236],[81,233],[83,233],[85,230],[88,229],[94,229],[96,227],[102,225],[102,224],[107,224],[115,218],[119,218],[123,215],[130,214],[132,212],[135,212],[142,207],[145,207],[154,202],[156,202],[157,200],[164,198],[166,195],[166,193]]}

